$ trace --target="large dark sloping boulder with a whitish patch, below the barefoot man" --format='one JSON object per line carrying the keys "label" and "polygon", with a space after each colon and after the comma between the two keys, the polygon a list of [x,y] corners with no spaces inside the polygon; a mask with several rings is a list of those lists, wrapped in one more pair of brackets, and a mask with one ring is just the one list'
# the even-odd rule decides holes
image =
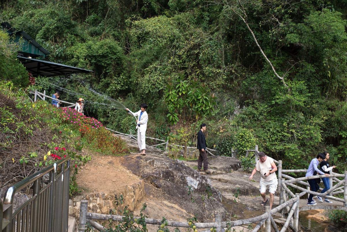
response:
{"label": "large dark sloping boulder with a whitish patch, below the barefoot man", "polygon": [[[147,155],[127,155],[121,163],[146,183],[166,194],[175,204],[187,211],[196,212],[201,221],[206,221],[206,218],[213,221],[214,217],[211,214],[216,214],[217,211],[225,217],[220,192],[210,187],[209,192],[214,200],[208,199],[205,192],[208,186],[212,186],[208,177],[201,175],[183,161],[172,160],[165,155],[148,155],[148,151],[146,153]],[[189,195],[188,186],[192,186],[193,191]]]}

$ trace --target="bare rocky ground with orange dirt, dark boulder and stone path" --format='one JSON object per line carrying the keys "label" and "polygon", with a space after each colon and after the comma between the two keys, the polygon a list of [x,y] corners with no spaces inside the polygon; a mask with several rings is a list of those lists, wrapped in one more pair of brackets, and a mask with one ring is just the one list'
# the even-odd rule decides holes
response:
{"label": "bare rocky ground with orange dirt, dark boulder and stone path", "polygon": [[[138,149],[136,141],[121,137],[127,141],[130,150]],[[235,221],[264,213],[259,194],[260,175],[257,173],[249,181],[250,174],[242,170],[239,160],[209,157],[211,174],[205,174],[196,170],[196,160],[172,160],[166,152],[153,147],[146,148],[147,155],[131,153],[125,157],[94,157],[88,162],[78,176],[79,184],[84,187],[85,199],[91,193],[111,194],[125,185],[141,182],[138,186],[143,185],[144,193],[138,194],[141,200],[133,204],[135,215],[139,215],[143,203],[147,204],[144,214],[148,218],[165,217],[167,220],[180,222],[186,222],[187,218],[194,215],[198,222],[214,222],[216,214],[221,214],[223,221]],[[192,193],[189,195],[188,186],[192,186]],[[205,192],[208,186],[211,186],[210,193],[214,200],[208,199]],[[235,197],[237,190],[239,195]],[[275,197],[273,207],[278,204],[279,199]],[[277,223],[284,223],[280,214],[274,215],[274,218]],[[157,225],[150,225],[148,228],[150,232],[158,230]],[[235,229],[248,231],[246,226]]]}

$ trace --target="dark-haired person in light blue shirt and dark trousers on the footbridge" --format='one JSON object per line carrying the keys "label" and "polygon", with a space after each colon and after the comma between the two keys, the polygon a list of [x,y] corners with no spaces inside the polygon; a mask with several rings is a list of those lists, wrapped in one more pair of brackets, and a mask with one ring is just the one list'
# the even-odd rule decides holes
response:
{"label": "dark-haired person in light blue shirt and dark trousers on the footbridge", "polygon": [[[318,165],[325,159],[325,155],[323,153],[319,153],[317,158],[311,160],[310,166],[308,166],[306,176],[314,176],[314,171],[316,171],[320,175],[325,175],[329,177],[329,174],[323,173],[320,169],[318,169]],[[315,179],[308,179],[308,184],[310,184],[311,191],[317,192],[319,190],[319,185],[316,183]],[[310,193],[307,199],[307,205],[317,205],[315,201],[312,200],[313,194]]]}

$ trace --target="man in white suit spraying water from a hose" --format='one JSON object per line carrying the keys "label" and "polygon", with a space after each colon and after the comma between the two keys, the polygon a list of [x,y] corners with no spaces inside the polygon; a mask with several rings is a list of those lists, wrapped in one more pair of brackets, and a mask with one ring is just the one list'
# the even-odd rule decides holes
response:
{"label": "man in white suit spraying water from a hose", "polygon": [[138,155],[146,155],[146,130],[147,130],[147,122],[148,122],[148,114],[146,112],[147,104],[142,103],[140,105],[141,110],[133,113],[128,108],[126,110],[130,115],[138,116],[136,120],[136,129],[137,129],[137,144],[140,149],[140,153]]}

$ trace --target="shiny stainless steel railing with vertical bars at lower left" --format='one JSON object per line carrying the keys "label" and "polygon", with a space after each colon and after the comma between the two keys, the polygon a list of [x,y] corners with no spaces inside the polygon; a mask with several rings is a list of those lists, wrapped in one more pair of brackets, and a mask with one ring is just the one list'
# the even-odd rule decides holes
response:
{"label": "shiny stainless steel railing with vertical bars at lower left", "polygon": [[[45,184],[43,179],[49,178]],[[69,207],[69,157],[34,173],[7,189],[0,201],[2,232],[66,232]],[[15,194],[31,189],[32,197],[15,211]]]}

